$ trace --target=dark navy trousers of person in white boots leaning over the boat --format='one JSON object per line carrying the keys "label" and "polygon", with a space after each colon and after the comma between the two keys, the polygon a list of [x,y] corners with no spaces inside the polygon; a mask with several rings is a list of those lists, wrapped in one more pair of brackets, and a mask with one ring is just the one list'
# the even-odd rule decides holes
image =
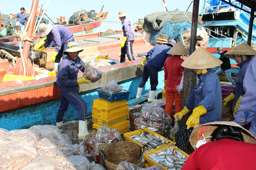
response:
{"label": "dark navy trousers of person in white boots leaning over the boat", "polygon": [[156,86],[158,85],[158,70],[150,66],[149,64],[145,64],[142,73],[142,80],[140,82],[139,87],[143,88],[146,82],[150,78],[151,91],[156,90]]}

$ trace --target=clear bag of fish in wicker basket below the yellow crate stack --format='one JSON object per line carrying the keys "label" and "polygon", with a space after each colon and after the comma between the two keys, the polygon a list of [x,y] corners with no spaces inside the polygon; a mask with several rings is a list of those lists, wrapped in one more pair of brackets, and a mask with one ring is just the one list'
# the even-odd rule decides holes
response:
{"label": "clear bag of fish in wicker basket below the yellow crate stack", "polygon": [[110,144],[114,139],[121,140],[118,129],[110,129],[108,126],[100,126],[95,136],[88,139],[87,142],[92,144]]}

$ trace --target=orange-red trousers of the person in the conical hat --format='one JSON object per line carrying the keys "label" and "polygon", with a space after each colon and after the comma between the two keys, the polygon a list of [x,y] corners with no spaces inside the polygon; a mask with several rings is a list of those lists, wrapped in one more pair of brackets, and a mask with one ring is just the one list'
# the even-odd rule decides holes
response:
{"label": "orange-red trousers of the person in the conical hat", "polygon": [[182,94],[179,94],[175,88],[166,87],[165,96],[166,96],[165,113],[169,116],[172,114],[172,105],[174,100],[175,100],[175,114],[180,112]]}

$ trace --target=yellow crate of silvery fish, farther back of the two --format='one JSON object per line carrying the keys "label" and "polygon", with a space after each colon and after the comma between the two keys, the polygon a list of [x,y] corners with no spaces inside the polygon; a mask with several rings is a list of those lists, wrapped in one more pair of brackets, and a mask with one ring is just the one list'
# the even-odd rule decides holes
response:
{"label": "yellow crate of silvery fish, farther back of the two", "polygon": [[134,142],[140,146],[146,145],[150,151],[174,144],[171,140],[147,128],[124,133],[124,138],[125,141]]}

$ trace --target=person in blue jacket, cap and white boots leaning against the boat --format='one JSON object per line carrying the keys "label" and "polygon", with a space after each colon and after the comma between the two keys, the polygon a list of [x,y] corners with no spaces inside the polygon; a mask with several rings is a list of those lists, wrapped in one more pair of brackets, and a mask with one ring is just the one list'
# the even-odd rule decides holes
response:
{"label": "person in blue jacket, cap and white boots leaning against the boat", "polygon": [[151,88],[148,92],[148,102],[155,99],[156,86],[158,85],[158,71],[164,67],[165,60],[171,56],[167,52],[176,44],[175,40],[169,40],[166,45],[159,45],[148,51],[145,59],[141,62],[144,65],[142,80],[137,90],[136,99],[141,98],[141,93],[144,85],[150,77]]}

